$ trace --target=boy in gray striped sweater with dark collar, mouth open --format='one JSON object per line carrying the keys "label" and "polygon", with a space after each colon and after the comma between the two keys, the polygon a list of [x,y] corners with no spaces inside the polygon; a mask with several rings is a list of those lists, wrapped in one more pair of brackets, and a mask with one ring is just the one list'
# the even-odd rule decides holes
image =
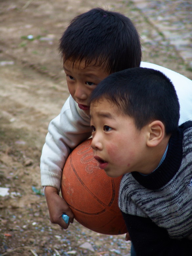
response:
{"label": "boy in gray striped sweater with dark collar, mouth open", "polygon": [[169,78],[132,68],[114,73],[90,96],[94,157],[123,175],[119,207],[137,256],[192,255],[192,122]]}

